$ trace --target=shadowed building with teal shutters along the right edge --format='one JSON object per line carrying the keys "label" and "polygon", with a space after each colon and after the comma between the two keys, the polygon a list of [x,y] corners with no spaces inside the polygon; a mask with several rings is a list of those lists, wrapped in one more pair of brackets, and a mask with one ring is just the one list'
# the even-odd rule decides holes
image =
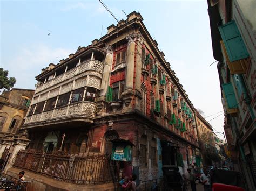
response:
{"label": "shadowed building with teal shutters along the right edge", "polygon": [[255,7],[255,1],[208,0],[228,150],[250,190],[256,187]]}

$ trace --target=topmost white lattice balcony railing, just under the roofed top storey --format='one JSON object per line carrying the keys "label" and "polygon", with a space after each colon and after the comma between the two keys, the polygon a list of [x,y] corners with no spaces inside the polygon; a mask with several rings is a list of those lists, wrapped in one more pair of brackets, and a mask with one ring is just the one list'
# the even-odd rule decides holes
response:
{"label": "topmost white lattice balcony railing, just under the roofed top storey", "polygon": [[49,80],[49,81],[41,84],[39,87],[36,88],[35,93],[38,93],[39,91],[45,90],[52,86],[55,86],[56,84],[58,84],[62,81],[68,80],[77,74],[85,72],[86,70],[95,70],[95,71],[99,72],[100,74],[103,74],[103,68],[104,68],[103,63],[98,60],[86,61],[86,62],[82,63],[82,65],[79,65],[79,66],[69,70],[68,72],[55,77],[52,80]]}

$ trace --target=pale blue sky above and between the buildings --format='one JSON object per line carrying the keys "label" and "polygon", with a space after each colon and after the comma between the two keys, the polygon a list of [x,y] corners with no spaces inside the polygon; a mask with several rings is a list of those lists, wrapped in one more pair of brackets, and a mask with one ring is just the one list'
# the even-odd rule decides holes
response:
{"label": "pale blue sky above and between the buildings", "polygon": [[[151,36],[165,53],[194,107],[204,116],[221,105],[217,63],[214,62],[207,1],[107,1],[118,19],[139,11]],[[4,1],[1,3],[0,67],[16,77],[15,88],[34,89],[35,76],[53,62],[68,58],[77,47],[106,34],[116,24],[95,1]],[[48,36],[50,33],[50,36]],[[206,120],[214,116],[206,117]],[[224,116],[210,124],[223,132]],[[221,137],[221,136],[219,136]],[[221,137],[223,138],[223,137]]]}

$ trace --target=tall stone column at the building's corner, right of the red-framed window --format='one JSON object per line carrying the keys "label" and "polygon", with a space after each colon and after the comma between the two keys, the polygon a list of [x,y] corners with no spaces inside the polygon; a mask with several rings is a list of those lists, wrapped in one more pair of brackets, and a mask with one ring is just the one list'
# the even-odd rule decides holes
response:
{"label": "tall stone column at the building's corner, right of the red-framed window", "polygon": [[[125,73],[125,91],[122,93],[123,101],[125,102],[126,107],[129,107],[132,97],[134,95],[133,92],[133,79],[134,79],[134,55],[135,55],[135,41],[136,33],[133,33],[130,36],[126,37],[128,40],[127,47],[127,60],[126,60],[126,73]],[[132,105],[130,105],[132,107]]]}

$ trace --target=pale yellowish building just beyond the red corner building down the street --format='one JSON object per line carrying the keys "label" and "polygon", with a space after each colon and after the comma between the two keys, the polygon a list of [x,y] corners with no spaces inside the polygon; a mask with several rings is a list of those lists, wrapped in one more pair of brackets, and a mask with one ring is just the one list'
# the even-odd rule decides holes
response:
{"label": "pale yellowish building just beyond the red corner building down the street", "polygon": [[[213,138],[212,126],[205,120],[203,116],[196,111],[196,123],[198,131],[199,146],[201,148],[203,165],[212,165],[212,160],[206,157],[206,149],[215,151],[215,143]],[[204,151],[204,152],[203,152]]]}

